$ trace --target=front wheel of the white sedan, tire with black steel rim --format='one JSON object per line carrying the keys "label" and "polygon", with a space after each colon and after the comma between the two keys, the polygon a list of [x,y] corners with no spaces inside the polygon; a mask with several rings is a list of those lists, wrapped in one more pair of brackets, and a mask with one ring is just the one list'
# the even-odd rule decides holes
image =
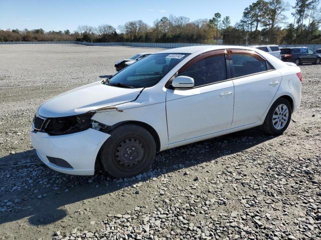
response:
{"label": "front wheel of the white sedan, tire with black steel rim", "polygon": [[103,169],[118,178],[132,177],[146,171],[156,154],[153,136],[145,128],[124,124],[113,129],[102,145]]}

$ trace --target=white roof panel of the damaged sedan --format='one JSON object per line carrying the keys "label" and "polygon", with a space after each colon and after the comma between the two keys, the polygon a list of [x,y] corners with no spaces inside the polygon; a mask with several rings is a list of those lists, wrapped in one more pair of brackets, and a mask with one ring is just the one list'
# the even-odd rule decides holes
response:
{"label": "white roof panel of the damaged sedan", "polygon": [[159,51],[157,53],[194,53],[201,50],[219,50],[219,49],[226,49],[226,48],[238,48],[238,49],[247,49],[253,50],[253,48],[248,46],[235,46],[235,45],[198,45],[198,46],[184,46],[178,48],[170,48],[163,51]]}

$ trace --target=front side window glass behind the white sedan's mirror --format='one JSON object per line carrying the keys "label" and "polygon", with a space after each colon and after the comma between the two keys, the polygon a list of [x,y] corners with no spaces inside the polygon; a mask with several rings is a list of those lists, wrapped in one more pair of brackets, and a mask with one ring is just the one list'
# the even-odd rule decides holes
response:
{"label": "front side window glass behind the white sedan's mirror", "polygon": [[201,86],[226,79],[225,54],[216,54],[194,62],[179,72],[179,76],[194,78],[194,86]]}

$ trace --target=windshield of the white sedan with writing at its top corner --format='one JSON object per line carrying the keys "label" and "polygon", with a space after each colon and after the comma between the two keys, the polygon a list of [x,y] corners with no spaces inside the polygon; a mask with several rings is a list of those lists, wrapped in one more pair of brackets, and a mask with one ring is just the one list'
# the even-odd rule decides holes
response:
{"label": "windshield of the white sedan with writing at its top corner", "polygon": [[187,53],[151,54],[113,75],[106,84],[119,87],[149,87],[161,80]]}

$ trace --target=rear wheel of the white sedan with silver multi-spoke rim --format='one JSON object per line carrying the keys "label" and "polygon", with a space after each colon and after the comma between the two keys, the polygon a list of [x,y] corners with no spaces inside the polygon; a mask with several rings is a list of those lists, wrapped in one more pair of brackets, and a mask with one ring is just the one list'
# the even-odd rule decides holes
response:
{"label": "rear wheel of the white sedan with silver multi-spoke rim", "polygon": [[[280,113],[278,113],[279,111]],[[282,111],[284,111],[284,113],[282,113]],[[291,114],[292,114],[292,107],[290,102],[283,97],[278,98],[272,104],[271,108],[269,109],[265,117],[264,123],[262,125],[263,130],[266,133],[272,134],[272,135],[282,134],[290,123]],[[286,117],[287,119],[285,121]]]}

